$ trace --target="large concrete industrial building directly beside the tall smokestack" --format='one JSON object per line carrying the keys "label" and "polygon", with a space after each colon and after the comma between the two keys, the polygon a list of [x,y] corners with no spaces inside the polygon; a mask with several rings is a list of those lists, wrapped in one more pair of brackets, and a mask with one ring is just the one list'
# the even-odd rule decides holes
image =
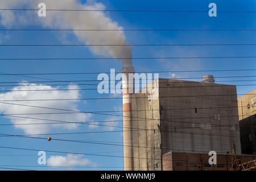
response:
{"label": "large concrete industrial building directly beside the tall smokestack", "polygon": [[146,88],[130,94],[123,111],[131,116],[123,123],[126,170],[163,170],[170,152],[226,154],[232,142],[241,154],[236,86],[208,75],[201,82],[158,78]]}

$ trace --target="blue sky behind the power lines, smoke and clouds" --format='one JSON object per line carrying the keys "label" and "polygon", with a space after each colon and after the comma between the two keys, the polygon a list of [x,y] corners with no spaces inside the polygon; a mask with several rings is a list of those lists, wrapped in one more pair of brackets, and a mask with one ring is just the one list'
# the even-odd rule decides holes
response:
{"label": "blue sky behind the power lines, smoke and clouds", "polygon": [[[7,1],[7,0],[4,0]],[[8,0],[13,1],[13,0]],[[55,0],[59,1],[59,0]],[[43,1],[42,1],[43,2]],[[208,11],[211,2],[216,3],[217,11],[255,11],[256,2],[248,1],[97,1],[106,6],[108,10],[203,10]],[[85,3],[85,1],[81,1]],[[19,7],[19,6],[16,6]],[[2,7],[1,7],[2,8]],[[3,7],[4,8],[4,7]],[[25,6],[26,8],[26,6]],[[36,8],[36,7],[35,7]],[[83,12],[71,12],[82,14]],[[19,14],[19,13],[18,13]],[[86,13],[84,13],[86,14]],[[106,16],[111,18],[118,26],[124,29],[255,29],[255,13],[218,13],[217,17],[209,17],[208,13],[139,13],[139,12],[107,12]],[[1,19],[1,15],[0,15]],[[2,20],[2,19],[1,19]],[[0,25],[1,29],[9,28]],[[45,28],[40,25],[20,23],[12,24],[11,28]],[[101,34],[101,32],[97,32]],[[218,43],[255,43],[255,31],[125,31],[125,37],[129,44],[218,44]],[[81,44],[77,36],[70,32],[63,34],[59,31],[0,31],[1,44]],[[255,46],[134,46],[133,57],[209,57],[209,56],[255,56]],[[108,57],[92,53],[88,47],[0,47],[1,59],[10,58],[36,58],[36,57]],[[49,61],[1,61],[1,73],[76,73],[76,72],[110,72],[115,68],[120,72],[122,64],[118,60],[49,60]],[[197,71],[197,70],[220,70],[220,69],[254,69],[255,58],[243,59],[179,59],[179,60],[134,60],[133,67],[137,72],[148,71]],[[214,77],[221,76],[253,76],[255,71],[240,72],[196,72],[175,73],[176,77],[203,77],[212,74]],[[160,77],[168,78],[168,73],[161,73]],[[22,76],[0,76],[0,82],[19,81],[44,81],[53,80],[97,80],[97,75],[40,75],[38,78]],[[40,79],[41,78],[41,79]],[[255,77],[246,78],[216,78],[216,81],[230,80],[225,84],[255,84],[255,81],[235,82],[232,80],[255,80]],[[194,79],[195,80],[195,79]],[[200,81],[200,79],[196,80]],[[94,82],[95,83],[95,82]],[[6,84],[2,84],[6,85]],[[13,85],[13,84],[12,84]],[[52,86],[56,88],[56,86]],[[10,90],[13,86],[1,86],[1,90]],[[64,89],[66,86],[60,86]],[[97,88],[97,86],[80,85],[80,88]],[[237,86],[237,93],[244,94],[255,89],[255,85]],[[6,93],[6,92],[1,92]],[[39,96],[42,92],[38,92]],[[79,98],[119,97],[119,95],[99,94],[97,90],[81,90]],[[17,102],[16,102],[17,103]],[[19,102],[19,104],[29,104]],[[33,103],[34,105],[35,102]],[[58,108],[63,108],[61,102],[55,103]],[[110,111],[122,110],[122,100],[88,100],[86,102],[75,102],[76,109],[82,111]],[[13,108],[11,108],[13,109]],[[15,108],[16,109],[16,108]],[[4,113],[5,110],[1,110]],[[15,111],[15,110],[14,110]],[[49,111],[49,110],[48,110]],[[121,115],[122,113],[115,113]],[[36,115],[33,117],[40,117]],[[112,119],[107,115],[92,114],[89,121],[105,121]],[[122,120],[122,117],[115,117]],[[9,118],[0,117],[1,123],[12,123]],[[118,122],[116,126],[122,126]],[[113,128],[112,128],[113,129]],[[121,130],[114,128],[113,131]],[[102,126],[90,128],[88,125],[79,125],[76,129],[53,128],[47,133],[69,133],[69,132],[91,132],[109,131]],[[14,126],[1,126],[0,133],[3,134],[25,134],[23,129]],[[43,136],[53,139],[88,140],[122,144],[121,132],[96,133],[96,134],[73,134]],[[74,143],[46,139],[31,139],[19,137],[0,137],[1,146],[34,148],[39,150],[67,151],[102,155],[122,156],[122,146],[108,146],[102,144]],[[6,156],[12,155],[12,156]],[[21,156],[13,156],[21,155]],[[27,155],[27,156],[24,156]],[[47,158],[51,155],[48,154]],[[65,154],[63,155],[65,156]],[[82,159],[90,160],[88,168],[68,168],[76,170],[105,170],[123,168],[122,158],[110,158],[104,156],[82,156]],[[39,166],[36,151],[10,150],[0,148],[1,165],[17,166]],[[93,168],[96,166],[99,168]],[[101,168],[120,167],[120,168]],[[22,167],[19,167],[22,168]],[[23,167],[29,169],[64,169],[47,167]]]}

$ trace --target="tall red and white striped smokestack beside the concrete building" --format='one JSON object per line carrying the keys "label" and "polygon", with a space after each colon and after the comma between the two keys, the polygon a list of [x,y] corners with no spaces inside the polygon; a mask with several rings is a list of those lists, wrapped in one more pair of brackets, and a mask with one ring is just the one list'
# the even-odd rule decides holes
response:
{"label": "tall red and white striped smokestack beside the concrete building", "polygon": [[[130,73],[130,74],[129,74]],[[122,69],[122,91],[123,91],[123,166],[125,171],[133,170],[133,132],[131,113],[131,94],[134,93],[133,81],[134,69],[125,66]]]}

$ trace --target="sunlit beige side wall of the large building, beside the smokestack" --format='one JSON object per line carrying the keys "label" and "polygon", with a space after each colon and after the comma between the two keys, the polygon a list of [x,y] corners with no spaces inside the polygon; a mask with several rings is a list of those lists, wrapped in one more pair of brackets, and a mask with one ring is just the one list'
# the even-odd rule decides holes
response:
{"label": "sunlit beige side wall of the large building, beside the smokestack", "polygon": [[148,92],[132,96],[133,154],[135,170],[161,170],[159,100]]}

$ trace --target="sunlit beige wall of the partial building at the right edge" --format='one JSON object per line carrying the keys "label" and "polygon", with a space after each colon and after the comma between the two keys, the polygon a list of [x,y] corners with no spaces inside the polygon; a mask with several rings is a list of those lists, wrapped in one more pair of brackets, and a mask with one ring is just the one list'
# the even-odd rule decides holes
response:
{"label": "sunlit beige wall of the partial building at the right edge", "polygon": [[239,121],[256,114],[256,89],[237,98]]}

